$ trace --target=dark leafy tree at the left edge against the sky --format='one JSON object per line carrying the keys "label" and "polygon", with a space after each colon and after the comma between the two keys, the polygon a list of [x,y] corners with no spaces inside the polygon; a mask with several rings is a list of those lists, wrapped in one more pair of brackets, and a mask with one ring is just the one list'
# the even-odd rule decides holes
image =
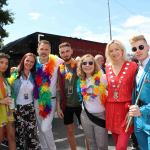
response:
{"label": "dark leafy tree at the left edge against the sky", "polygon": [[3,44],[3,39],[8,37],[8,32],[4,29],[5,25],[13,23],[13,13],[10,10],[4,9],[8,6],[7,0],[0,0],[0,47]]}

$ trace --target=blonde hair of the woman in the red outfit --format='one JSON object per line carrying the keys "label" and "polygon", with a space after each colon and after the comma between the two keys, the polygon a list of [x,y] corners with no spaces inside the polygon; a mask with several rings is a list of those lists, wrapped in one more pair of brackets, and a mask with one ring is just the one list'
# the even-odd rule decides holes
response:
{"label": "blonde hair of the woman in the red outfit", "polygon": [[125,49],[124,45],[118,40],[112,40],[112,41],[108,42],[108,44],[106,45],[106,49],[105,49],[105,57],[107,59],[107,62],[108,63],[112,63],[112,59],[111,59],[111,57],[109,55],[109,47],[112,44],[117,44],[119,46],[119,48],[123,51],[123,59],[127,60],[126,49]]}

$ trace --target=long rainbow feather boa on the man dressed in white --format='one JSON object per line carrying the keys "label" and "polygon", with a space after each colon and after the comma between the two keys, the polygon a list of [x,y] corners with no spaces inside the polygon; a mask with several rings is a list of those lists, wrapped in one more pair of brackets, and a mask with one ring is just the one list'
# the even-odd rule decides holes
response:
{"label": "long rainbow feather boa on the man dressed in white", "polygon": [[46,118],[52,109],[52,95],[49,87],[56,66],[56,57],[50,54],[49,61],[45,65],[39,63],[39,57],[37,57],[34,98],[38,100],[39,115],[43,118]]}

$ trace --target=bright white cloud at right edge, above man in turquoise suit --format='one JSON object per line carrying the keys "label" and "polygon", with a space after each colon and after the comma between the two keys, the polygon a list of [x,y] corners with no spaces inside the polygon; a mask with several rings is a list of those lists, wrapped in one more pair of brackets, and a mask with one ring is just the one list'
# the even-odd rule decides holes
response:
{"label": "bright white cloud at right edge, above man in turquoise suit", "polygon": [[123,24],[124,27],[138,27],[140,25],[150,24],[150,17],[145,16],[132,16]]}

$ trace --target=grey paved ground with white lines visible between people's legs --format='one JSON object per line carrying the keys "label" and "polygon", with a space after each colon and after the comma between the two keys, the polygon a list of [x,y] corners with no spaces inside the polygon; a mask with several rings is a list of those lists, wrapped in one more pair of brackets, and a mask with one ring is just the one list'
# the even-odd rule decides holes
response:
{"label": "grey paved ground with white lines visible between people's legs", "polygon": [[[60,120],[58,118],[54,119],[53,133],[54,133],[54,137],[55,137],[57,150],[69,150],[69,145],[68,145],[67,138],[66,138],[66,129],[63,125],[62,120]],[[83,133],[83,130],[80,130],[77,128],[77,125],[76,125],[75,134],[76,134],[77,145],[78,145],[77,150],[85,150],[84,133]],[[111,135],[108,136],[108,139],[109,139],[109,148],[108,149],[115,150]],[[8,150],[8,148],[1,146],[0,150]],[[129,142],[128,150],[131,150],[130,142]]]}

